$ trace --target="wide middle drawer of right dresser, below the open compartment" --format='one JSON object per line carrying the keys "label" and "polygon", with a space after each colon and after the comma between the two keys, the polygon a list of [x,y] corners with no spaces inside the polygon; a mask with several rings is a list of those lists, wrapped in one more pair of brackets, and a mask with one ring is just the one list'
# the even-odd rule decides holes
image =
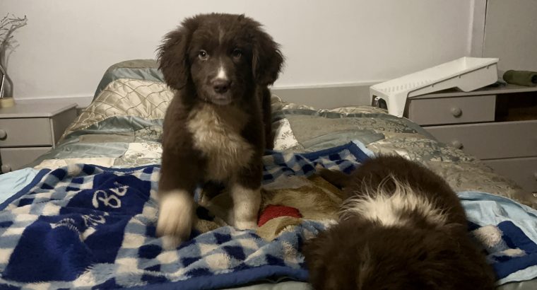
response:
{"label": "wide middle drawer of right dresser, below the open compartment", "polygon": [[438,141],[480,159],[537,156],[537,121],[425,127]]}

